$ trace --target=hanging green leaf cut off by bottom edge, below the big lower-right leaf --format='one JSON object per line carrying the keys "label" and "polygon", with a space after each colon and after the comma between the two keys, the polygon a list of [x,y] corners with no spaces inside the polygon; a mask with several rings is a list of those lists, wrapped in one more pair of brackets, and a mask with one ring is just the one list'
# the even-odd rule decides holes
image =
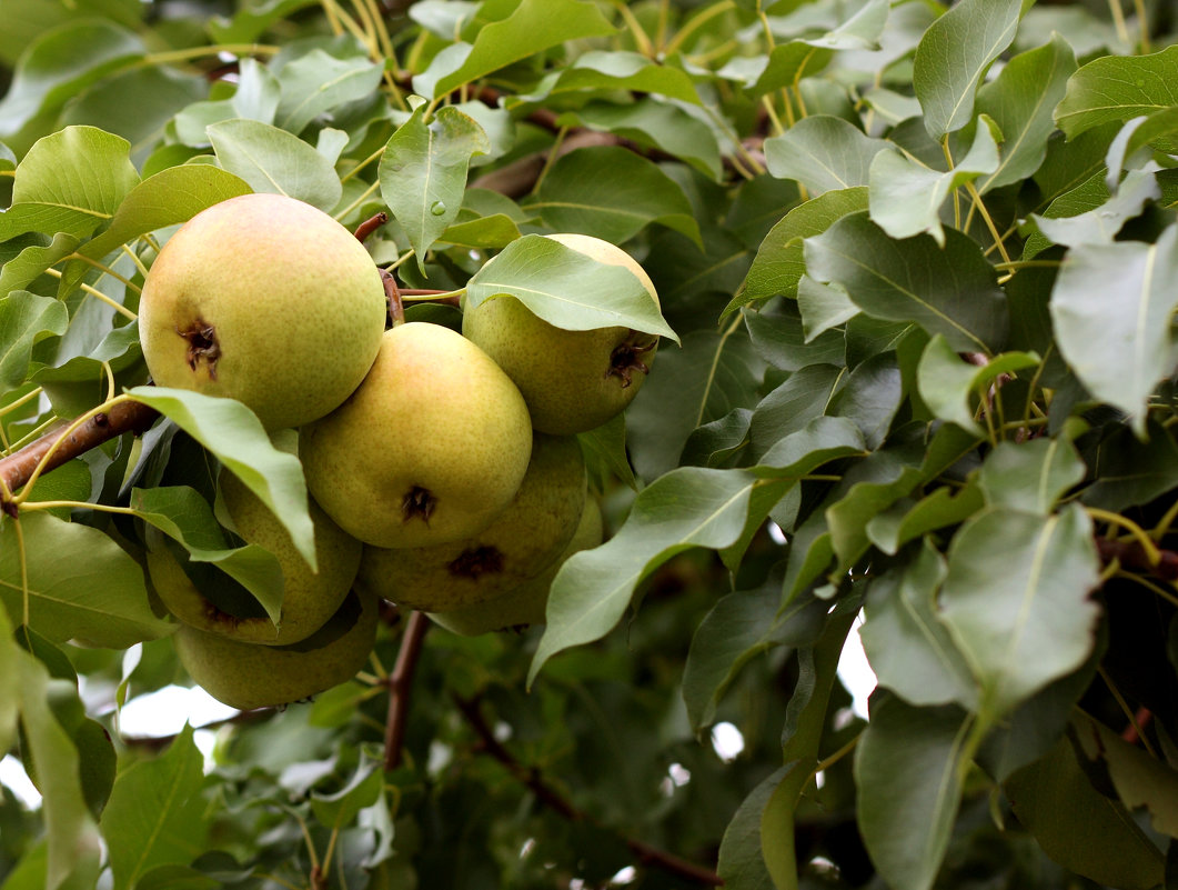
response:
{"label": "hanging green leaf cut off by bottom edge, below the big lower-right leaf", "polygon": [[961,803],[969,727],[957,707],[873,703],[855,750],[856,815],[891,886],[929,890],[937,879]]}

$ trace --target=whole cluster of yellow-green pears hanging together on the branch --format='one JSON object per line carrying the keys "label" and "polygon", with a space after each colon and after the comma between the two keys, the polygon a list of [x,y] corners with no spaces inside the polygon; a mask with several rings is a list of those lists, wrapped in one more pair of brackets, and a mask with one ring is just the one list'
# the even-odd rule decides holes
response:
{"label": "whole cluster of yellow-green pears hanging together on the branch", "polygon": [[[549,236],[641,266],[582,235]],[[540,624],[557,569],[602,539],[576,434],[621,413],[653,357],[628,328],[567,331],[501,295],[462,332],[386,329],[380,271],[326,213],[246,195],[198,213],[144,285],[140,339],[158,385],[229,396],[299,456],[317,571],[232,473],[218,517],[274,554],[280,619],[148,529],[152,588],[178,619],[192,679],[239,708],[303,699],[355,675],[380,600],[459,634]]]}

